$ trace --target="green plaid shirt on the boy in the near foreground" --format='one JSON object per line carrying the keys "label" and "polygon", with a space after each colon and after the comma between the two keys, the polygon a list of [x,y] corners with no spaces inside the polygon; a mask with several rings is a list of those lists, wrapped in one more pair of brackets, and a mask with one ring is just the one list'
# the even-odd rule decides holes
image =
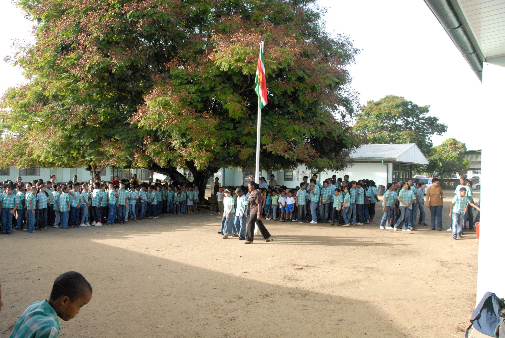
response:
{"label": "green plaid shirt on the boy in the near foreground", "polygon": [[58,315],[44,299],[28,306],[14,325],[11,338],[57,338],[59,333]]}

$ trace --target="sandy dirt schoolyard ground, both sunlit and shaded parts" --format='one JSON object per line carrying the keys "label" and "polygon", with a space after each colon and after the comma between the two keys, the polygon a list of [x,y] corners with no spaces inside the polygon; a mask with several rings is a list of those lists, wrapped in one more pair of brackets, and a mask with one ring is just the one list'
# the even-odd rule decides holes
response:
{"label": "sandy dirt schoolyard ground, both sunlit and shaded parts", "polygon": [[0,336],[75,270],[93,297],[64,337],[463,337],[478,241],[452,240],[449,205],[441,232],[379,230],[377,203],[373,224],[269,220],[274,241],[251,245],[210,212],[2,235]]}

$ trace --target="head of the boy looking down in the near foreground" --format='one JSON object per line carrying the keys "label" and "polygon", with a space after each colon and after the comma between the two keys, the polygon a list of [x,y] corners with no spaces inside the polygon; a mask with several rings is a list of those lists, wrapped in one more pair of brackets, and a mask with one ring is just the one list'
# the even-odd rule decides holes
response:
{"label": "head of the boy looking down in the near foreground", "polygon": [[79,313],[81,307],[89,303],[92,294],[91,285],[82,274],[68,271],[55,279],[48,303],[58,317],[69,321]]}

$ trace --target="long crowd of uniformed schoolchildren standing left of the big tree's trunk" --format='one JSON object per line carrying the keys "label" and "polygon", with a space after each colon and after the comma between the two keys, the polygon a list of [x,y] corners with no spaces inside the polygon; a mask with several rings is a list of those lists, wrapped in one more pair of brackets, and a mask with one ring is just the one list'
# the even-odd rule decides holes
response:
{"label": "long crowd of uniformed schoolchildren standing left of the big tree's trunk", "polygon": [[158,218],[162,212],[181,214],[197,212],[198,187],[175,185],[157,180],[139,183],[134,178],[116,176],[109,183],[99,177],[88,182],[67,184],[42,179],[28,183],[5,181],[0,188],[3,234],[13,229],[33,233],[47,227],[72,229],[102,226],[102,223],[124,224],[137,219]]}

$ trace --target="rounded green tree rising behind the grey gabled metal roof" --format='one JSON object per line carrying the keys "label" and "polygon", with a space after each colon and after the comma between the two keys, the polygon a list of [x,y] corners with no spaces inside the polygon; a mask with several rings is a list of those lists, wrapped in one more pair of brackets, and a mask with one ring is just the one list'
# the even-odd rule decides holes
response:
{"label": "rounded green tree rising behind the grey gabled metal roof", "polygon": [[368,101],[354,125],[369,144],[415,143],[425,156],[431,151],[431,136],[442,135],[447,126],[428,116],[429,106],[419,106],[403,97],[388,95]]}

